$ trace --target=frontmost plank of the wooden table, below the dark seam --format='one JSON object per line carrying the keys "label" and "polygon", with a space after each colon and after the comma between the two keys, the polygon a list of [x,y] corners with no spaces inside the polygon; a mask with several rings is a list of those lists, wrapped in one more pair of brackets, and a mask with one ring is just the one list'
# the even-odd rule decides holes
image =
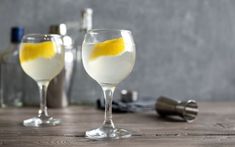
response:
{"label": "frontmost plank of the wooden table, below the dark seam", "polygon": [[92,141],[81,137],[62,137],[62,136],[21,136],[18,138],[6,138],[0,141],[4,146],[79,146],[79,147],[221,147],[234,146],[235,137],[227,136],[197,136],[197,137],[132,137],[130,139],[112,141]]}

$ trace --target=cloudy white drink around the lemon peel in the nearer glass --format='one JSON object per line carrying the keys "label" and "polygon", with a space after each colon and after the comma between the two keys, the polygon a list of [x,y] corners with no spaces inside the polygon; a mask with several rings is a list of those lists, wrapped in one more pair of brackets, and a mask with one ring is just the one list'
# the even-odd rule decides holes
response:
{"label": "cloudy white drink around the lemon peel in the nearer glass", "polygon": [[134,45],[126,45],[125,51],[117,56],[101,56],[89,60],[95,44],[83,43],[82,59],[86,72],[100,84],[116,85],[127,77],[135,63]]}

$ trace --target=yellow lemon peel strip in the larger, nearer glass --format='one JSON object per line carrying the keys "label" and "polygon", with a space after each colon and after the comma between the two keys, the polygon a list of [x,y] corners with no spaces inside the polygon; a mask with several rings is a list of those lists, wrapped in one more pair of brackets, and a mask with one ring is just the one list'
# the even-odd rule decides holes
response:
{"label": "yellow lemon peel strip in the larger, nearer glass", "polygon": [[90,54],[90,60],[102,56],[118,56],[125,50],[123,38],[116,38],[96,43]]}

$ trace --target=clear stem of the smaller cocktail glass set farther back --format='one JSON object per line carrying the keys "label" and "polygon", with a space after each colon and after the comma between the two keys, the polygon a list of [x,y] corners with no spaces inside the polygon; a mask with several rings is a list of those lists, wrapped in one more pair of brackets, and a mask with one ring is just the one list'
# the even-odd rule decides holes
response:
{"label": "clear stem of the smaller cocktail glass set farther back", "polygon": [[49,115],[47,113],[47,87],[49,82],[38,83],[39,94],[40,94],[40,109],[38,111],[38,117],[40,118],[48,118]]}

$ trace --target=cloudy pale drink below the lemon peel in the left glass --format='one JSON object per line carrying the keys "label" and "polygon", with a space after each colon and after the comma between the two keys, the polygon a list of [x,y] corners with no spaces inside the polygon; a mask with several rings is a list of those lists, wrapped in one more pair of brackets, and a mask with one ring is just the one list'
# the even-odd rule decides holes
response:
{"label": "cloudy pale drink below the lemon peel in the left glass", "polygon": [[37,82],[47,82],[64,67],[64,56],[56,54],[51,59],[37,58],[21,63],[23,70]]}

